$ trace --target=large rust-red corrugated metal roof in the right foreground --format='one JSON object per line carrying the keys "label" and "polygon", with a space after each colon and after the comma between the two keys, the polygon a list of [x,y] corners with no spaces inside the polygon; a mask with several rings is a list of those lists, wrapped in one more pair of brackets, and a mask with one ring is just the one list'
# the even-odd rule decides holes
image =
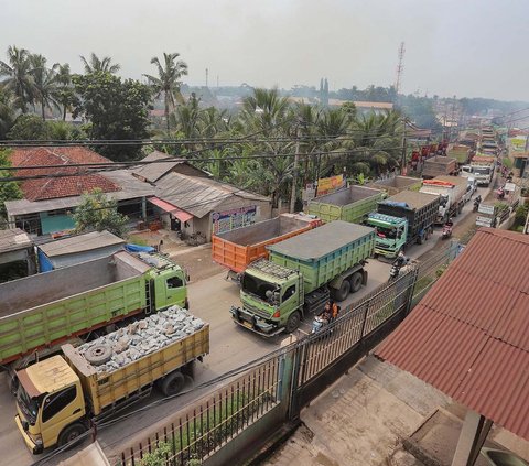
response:
{"label": "large rust-red corrugated metal roof in the right foreground", "polygon": [[529,440],[529,236],[482,228],[377,354]]}

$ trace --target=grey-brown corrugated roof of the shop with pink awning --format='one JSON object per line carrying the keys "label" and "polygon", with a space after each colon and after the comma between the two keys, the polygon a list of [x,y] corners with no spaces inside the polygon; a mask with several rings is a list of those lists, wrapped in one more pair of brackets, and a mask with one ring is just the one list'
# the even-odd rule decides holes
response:
{"label": "grey-brown corrugated roof of the shop with pink awning", "polygon": [[269,201],[268,197],[239,189],[226,183],[181,173],[168,173],[156,182],[156,197],[202,218],[233,196]]}

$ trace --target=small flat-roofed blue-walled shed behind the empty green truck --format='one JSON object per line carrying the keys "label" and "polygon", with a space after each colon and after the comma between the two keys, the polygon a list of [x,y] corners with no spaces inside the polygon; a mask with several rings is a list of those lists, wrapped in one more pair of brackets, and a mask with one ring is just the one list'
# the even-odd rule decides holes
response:
{"label": "small flat-roofed blue-walled shed behind the empty green truck", "polygon": [[110,231],[90,231],[69,238],[56,239],[37,246],[39,271],[86,262],[114,254],[122,249],[125,240]]}

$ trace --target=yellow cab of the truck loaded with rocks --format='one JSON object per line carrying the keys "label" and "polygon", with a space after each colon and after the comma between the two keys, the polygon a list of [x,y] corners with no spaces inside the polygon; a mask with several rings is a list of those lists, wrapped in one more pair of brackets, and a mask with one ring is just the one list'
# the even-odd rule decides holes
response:
{"label": "yellow cab of the truck loaded with rocks", "polygon": [[80,380],[61,356],[19,370],[17,376],[15,423],[31,452],[65,445],[87,430],[79,421],[86,414]]}

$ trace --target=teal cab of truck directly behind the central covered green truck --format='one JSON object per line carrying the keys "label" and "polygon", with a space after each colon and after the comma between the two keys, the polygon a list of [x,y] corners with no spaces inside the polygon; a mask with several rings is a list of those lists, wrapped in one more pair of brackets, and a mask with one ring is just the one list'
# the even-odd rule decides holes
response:
{"label": "teal cab of truck directly behind the central covered green truck", "polygon": [[404,247],[408,238],[408,220],[390,215],[371,213],[367,225],[377,230],[375,253],[387,258],[396,258]]}

